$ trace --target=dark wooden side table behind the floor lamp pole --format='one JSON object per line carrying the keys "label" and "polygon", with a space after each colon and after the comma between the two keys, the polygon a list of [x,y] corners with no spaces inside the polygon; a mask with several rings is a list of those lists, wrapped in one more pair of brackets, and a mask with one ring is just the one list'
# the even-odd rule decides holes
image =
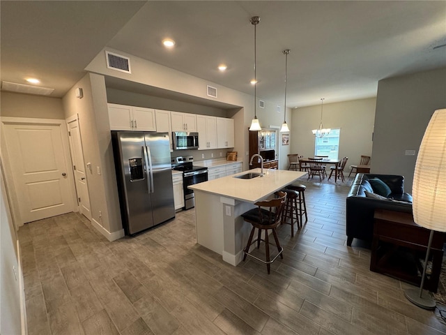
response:
{"label": "dark wooden side table behind the floor lamp pole", "polygon": [[[421,285],[430,230],[413,222],[413,215],[377,209],[370,270]],[[424,288],[437,292],[446,234],[434,232]],[[428,269],[429,269],[428,267]]]}

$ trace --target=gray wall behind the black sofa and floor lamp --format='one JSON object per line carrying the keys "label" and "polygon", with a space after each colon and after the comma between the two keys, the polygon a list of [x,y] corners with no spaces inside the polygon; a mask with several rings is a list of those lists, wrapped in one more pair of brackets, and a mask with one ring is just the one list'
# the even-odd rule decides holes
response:
{"label": "gray wall behind the black sofa and floor lamp", "polygon": [[446,107],[446,68],[380,80],[376,99],[371,171],[402,174],[412,193],[413,172],[427,124],[435,110]]}

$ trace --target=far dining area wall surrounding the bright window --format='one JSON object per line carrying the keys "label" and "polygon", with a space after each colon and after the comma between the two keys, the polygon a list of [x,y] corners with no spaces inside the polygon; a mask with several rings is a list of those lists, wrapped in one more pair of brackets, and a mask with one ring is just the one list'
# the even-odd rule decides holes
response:
{"label": "far dining area wall surrounding the bright window", "polygon": [[[348,157],[348,166],[357,164],[361,155],[371,156],[376,98],[323,104],[323,126],[341,128],[339,158]],[[293,110],[291,153],[314,156],[312,129],[321,122],[321,104]],[[374,158],[372,157],[372,160]]]}

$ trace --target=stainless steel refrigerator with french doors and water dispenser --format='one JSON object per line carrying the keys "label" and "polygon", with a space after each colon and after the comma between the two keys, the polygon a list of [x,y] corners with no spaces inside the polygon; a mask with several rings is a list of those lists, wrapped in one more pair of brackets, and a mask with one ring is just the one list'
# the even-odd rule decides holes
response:
{"label": "stainless steel refrigerator with french doors and water dispenser", "polygon": [[174,218],[167,133],[112,131],[112,143],[125,234]]}

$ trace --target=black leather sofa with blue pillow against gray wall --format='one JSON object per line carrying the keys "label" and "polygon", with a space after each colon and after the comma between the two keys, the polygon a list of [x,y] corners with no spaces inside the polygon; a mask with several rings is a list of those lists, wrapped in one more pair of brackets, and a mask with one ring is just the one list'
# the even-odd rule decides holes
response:
{"label": "black leather sofa with blue pillow against gray wall", "polygon": [[[366,196],[366,191],[374,193],[369,179],[378,178],[390,188],[387,199],[378,200]],[[397,201],[392,201],[392,200]],[[404,193],[404,177],[394,174],[356,174],[346,200],[347,245],[353,238],[371,241],[374,234],[375,209],[412,213],[412,196]]]}

